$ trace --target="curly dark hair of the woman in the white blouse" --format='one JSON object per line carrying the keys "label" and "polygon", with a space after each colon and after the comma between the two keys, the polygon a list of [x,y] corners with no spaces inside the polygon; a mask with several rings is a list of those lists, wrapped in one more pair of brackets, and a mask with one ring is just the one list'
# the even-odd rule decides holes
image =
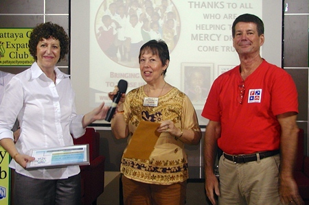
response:
{"label": "curly dark hair of the woman in the white blouse", "polygon": [[36,46],[38,42],[43,40],[43,38],[48,39],[50,37],[60,42],[60,58],[58,62],[60,62],[61,59],[65,59],[65,54],[69,53],[69,36],[67,36],[65,29],[60,25],[47,22],[36,25],[30,34],[29,51],[34,60],[38,59],[36,56]]}

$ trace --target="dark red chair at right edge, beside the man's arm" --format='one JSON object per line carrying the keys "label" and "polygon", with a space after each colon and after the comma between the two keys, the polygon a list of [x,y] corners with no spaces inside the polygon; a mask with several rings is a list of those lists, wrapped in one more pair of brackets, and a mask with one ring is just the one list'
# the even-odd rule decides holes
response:
{"label": "dark red chair at right edge, beside the man's arm", "polygon": [[299,194],[306,205],[309,205],[309,157],[304,155],[304,130],[299,129],[298,150],[295,164],[295,180]]}

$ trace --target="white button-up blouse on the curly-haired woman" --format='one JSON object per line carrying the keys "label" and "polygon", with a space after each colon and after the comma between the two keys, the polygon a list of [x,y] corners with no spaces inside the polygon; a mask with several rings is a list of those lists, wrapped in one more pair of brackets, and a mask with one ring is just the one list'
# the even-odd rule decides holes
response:
{"label": "white button-up blouse on the curly-haired woman", "polygon": [[[20,154],[30,149],[73,145],[73,138],[84,134],[82,115],[76,114],[75,93],[69,75],[57,67],[56,83],[34,62],[30,69],[15,75],[5,88],[0,106],[0,140],[12,138],[16,117],[21,135],[15,146]],[[16,172],[38,179],[62,179],[80,172],[78,166],[56,169],[26,170],[12,160],[9,167]]]}

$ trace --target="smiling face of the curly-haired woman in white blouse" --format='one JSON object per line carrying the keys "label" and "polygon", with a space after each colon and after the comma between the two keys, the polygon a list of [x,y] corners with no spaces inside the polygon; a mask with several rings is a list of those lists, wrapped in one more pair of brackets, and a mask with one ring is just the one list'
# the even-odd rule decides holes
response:
{"label": "smiling face of the curly-haired woman in white blouse", "polygon": [[36,62],[43,69],[52,69],[60,58],[60,42],[54,38],[43,38],[36,45]]}

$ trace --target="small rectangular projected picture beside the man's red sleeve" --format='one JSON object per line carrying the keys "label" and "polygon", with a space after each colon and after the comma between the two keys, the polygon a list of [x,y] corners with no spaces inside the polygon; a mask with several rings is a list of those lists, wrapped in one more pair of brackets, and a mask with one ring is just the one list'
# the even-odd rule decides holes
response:
{"label": "small rectangular projected picture beside the man's red sleeve", "polygon": [[192,104],[205,104],[212,83],[214,64],[183,63],[181,69],[185,94]]}

